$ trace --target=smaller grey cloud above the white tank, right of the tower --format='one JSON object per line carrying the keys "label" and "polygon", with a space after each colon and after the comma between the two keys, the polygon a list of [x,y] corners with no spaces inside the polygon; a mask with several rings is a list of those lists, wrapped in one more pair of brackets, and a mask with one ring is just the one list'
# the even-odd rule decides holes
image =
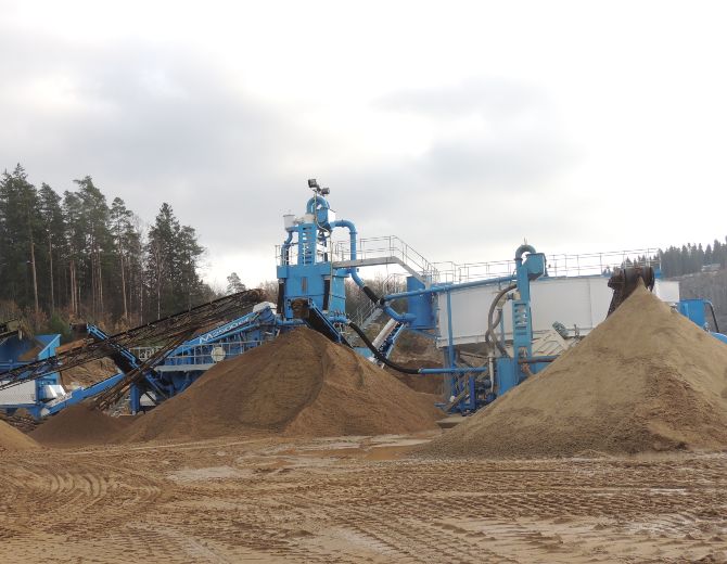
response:
{"label": "smaller grey cloud above the white tank, right of the tower", "polygon": [[481,125],[477,131],[437,139],[416,164],[437,185],[451,190],[525,190],[577,159],[548,95],[528,85],[479,78],[395,92],[377,106],[445,126],[462,118]]}

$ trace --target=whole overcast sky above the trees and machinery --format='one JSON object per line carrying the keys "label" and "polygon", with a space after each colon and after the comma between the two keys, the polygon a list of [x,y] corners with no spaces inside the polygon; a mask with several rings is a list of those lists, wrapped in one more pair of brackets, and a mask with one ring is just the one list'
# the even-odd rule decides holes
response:
{"label": "whole overcast sky above the trees and machinery", "polygon": [[0,167],[272,280],[308,178],[432,261],[727,234],[727,4],[0,0]]}

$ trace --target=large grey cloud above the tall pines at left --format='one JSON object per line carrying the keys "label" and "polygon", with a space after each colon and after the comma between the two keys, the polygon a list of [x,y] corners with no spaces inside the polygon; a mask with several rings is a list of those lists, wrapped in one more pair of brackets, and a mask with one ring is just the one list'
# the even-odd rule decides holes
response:
{"label": "large grey cloud above the tall pines at left", "polygon": [[271,217],[291,180],[278,163],[303,134],[232,87],[213,62],[178,46],[82,51],[3,37],[13,52],[0,62],[4,76],[27,85],[61,77],[66,92],[48,99],[72,103],[3,104],[2,166],[21,162],[31,180],[58,191],[91,175],[149,221],[168,201],[216,249],[278,232]]}

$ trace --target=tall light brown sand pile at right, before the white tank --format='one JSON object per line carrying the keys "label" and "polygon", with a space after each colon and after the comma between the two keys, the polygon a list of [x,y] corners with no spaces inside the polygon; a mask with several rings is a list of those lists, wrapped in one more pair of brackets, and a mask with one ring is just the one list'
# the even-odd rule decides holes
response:
{"label": "tall light brown sand pile at right, before the white tank", "polygon": [[727,346],[639,287],[540,374],[419,449],[559,457],[727,448]]}

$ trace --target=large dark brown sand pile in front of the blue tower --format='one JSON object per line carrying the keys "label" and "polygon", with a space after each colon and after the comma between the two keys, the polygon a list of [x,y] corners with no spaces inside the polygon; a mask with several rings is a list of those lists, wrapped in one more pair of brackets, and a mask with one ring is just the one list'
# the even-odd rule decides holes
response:
{"label": "large dark brown sand pile in front of the blue tower", "polygon": [[220,362],[137,418],[122,441],[196,440],[262,432],[336,436],[435,428],[431,398],[308,329]]}

